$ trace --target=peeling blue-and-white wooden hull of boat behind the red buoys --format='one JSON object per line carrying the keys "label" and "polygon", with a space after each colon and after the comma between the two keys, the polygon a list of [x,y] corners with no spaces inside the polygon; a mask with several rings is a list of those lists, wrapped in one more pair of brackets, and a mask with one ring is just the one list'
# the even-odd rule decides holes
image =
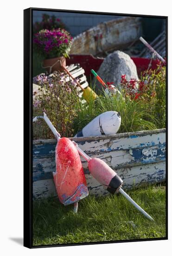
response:
{"label": "peeling blue-and-white wooden hull of boat behind the red buoys", "polygon": [[[70,138],[89,156],[105,161],[124,181],[124,189],[166,180],[166,129]],[[33,141],[33,197],[57,195],[52,172],[56,169],[56,140]],[[107,195],[89,173],[82,158],[90,195]]]}

